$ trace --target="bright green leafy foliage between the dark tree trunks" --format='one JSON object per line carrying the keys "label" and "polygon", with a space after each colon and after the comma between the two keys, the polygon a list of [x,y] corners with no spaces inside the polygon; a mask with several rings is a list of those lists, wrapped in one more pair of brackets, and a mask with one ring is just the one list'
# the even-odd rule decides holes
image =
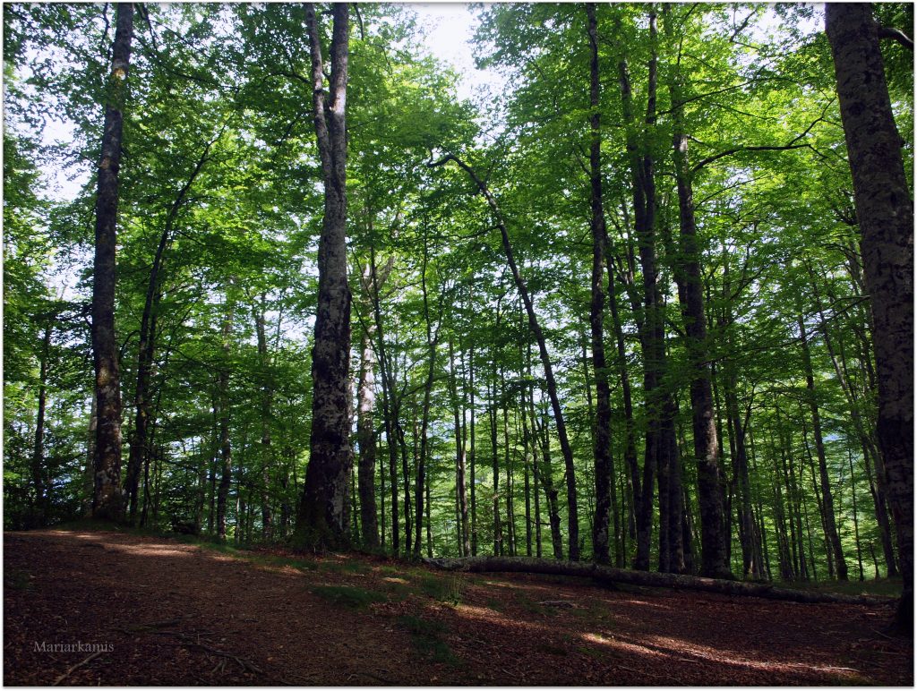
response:
{"label": "bright green leafy foliage between the dark tree trunks", "polygon": [[[660,28],[653,38],[648,9],[597,7],[602,182],[614,279],[610,299],[624,344],[619,360],[615,324],[606,310],[617,540],[624,543],[624,563],[631,561],[635,544],[626,525],[633,500],[623,459],[622,371],[631,383],[641,466],[654,414],[643,390],[644,277],[634,236],[633,153],[652,158],[655,166],[655,239],[669,358],[663,386],[679,403],[679,451],[695,553],[698,549],[687,395],[691,367],[673,282],[683,259],[671,159],[674,104],[665,88],[680,74],[688,156],[699,166],[692,182],[706,346],[713,363],[721,465],[732,502],[734,570],[741,569],[736,508],[742,490],[734,478],[736,421],[726,410],[733,396],[738,422],[746,428],[749,492],[758,530],[768,542],[770,575],[779,578],[780,563],[793,562],[781,545],[789,546],[790,530],[797,529],[803,534],[795,542],[803,545],[809,562],[806,575],[820,581],[826,575],[822,489],[813,472],[811,413],[796,325],[801,316],[845,556],[851,566],[856,560],[856,568],[862,561],[867,576],[877,569],[885,573],[874,500],[873,335],[821,10],[667,5],[667,16],[659,8]],[[507,92],[492,103],[458,99],[459,75],[415,49],[419,29],[409,7],[361,5],[361,26],[351,27],[351,371],[356,378],[359,343],[364,334],[371,335],[377,363],[370,411],[378,439],[375,489],[380,513],[385,502],[387,551],[392,550],[392,482],[404,554],[404,524],[410,519],[414,525],[415,479],[425,448],[429,521],[422,521],[422,552],[461,554],[456,466],[464,448],[469,493],[474,466],[478,554],[493,549],[496,494],[503,553],[525,554],[531,544],[533,554],[540,547],[549,556],[544,476],[550,472],[558,490],[562,525],[566,488],[534,339],[488,204],[464,171],[426,163],[446,153],[460,155],[481,174],[503,211],[557,370],[584,517],[580,528],[588,534],[584,529],[595,505],[594,369],[587,355],[591,50],[581,5],[498,4],[477,12],[476,58],[510,79]],[[911,5],[877,5],[876,13],[883,24],[912,26]],[[66,521],[86,509],[93,164],[101,138],[110,15],[103,5],[5,7],[6,528],[29,527],[39,519]],[[674,27],[670,36],[663,19]],[[290,538],[309,460],[311,332],[323,195],[309,115],[304,10],[287,4],[145,5],[135,35],[117,255],[124,451],[127,456],[136,415],[138,335],[149,300],[156,347],[148,402],[155,432],[145,450],[144,526],[164,531],[172,519],[180,519],[200,521],[201,532],[213,532],[211,507],[222,473],[218,428],[225,415],[232,454],[227,510],[232,544],[206,546],[239,556],[233,550],[240,544]],[[894,42],[883,42],[882,49],[905,140],[905,168],[911,170],[912,56]],[[657,116],[647,121],[654,50]],[[622,65],[631,84],[633,125],[624,123]],[[65,120],[72,136],[50,144],[55,118]],[[628,136],[635,151],[628,149]],[[789,143],[794,148],[762,150]],[[47,184],[47,170],[72,176],[81,189],[69,189],[61,199]],[[151,284],[160,243],[160,273]],[[378,294],[362,280],[370,262],[377,272],[389,268]],[[49,324],[46,349],[42,336]],[[224,324],[228,336],[222,333]],[[437,344],[431,347],[433,333]],[[42,362],[48,365],[42,478],[50,488],[44,508],[38,506],[32,467]],[[427,401],[428,371],[433,378]],[[356,451],[355,460],[361,450]],[[537,488],[533,458],[542,481]],[[351,493],[348,509],[359,534],[359,496],[354,494],[359,492]],[[790,527],[792,516],[799,521]],[[879,554],[875,561],[870,545]],[[588,557],[591,544],[582,547]],[[245,558],[329,573],[368,568],[361,562]],[[799,554],[795,562],[790,570],[801,571]],[[462,597],[458,576],[407,577],[427,597],[453,604]],[[396,585],[392,594],[403,595]]]}

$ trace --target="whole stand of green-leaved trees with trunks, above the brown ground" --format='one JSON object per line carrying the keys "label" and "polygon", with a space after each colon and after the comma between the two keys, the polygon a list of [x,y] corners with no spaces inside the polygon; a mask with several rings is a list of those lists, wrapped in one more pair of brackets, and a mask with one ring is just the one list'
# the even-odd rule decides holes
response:
{"label": "whole stand of green-leaved trees with trunks, above the brown ground", "polygon": [[5,528],[907,582],[843,17],[470,12],[4,5]]}

